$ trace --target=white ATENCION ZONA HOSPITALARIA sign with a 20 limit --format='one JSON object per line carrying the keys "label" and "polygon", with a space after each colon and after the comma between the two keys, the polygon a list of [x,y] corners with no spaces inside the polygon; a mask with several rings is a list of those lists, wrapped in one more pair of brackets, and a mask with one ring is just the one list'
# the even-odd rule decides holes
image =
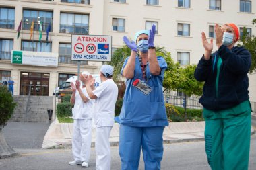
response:
{"label": "white ATENCION ZONA HOSPITALARIA sign with a 20 limit", "polygon": [[110,61],[112,36],[72,35],[71,60]]}

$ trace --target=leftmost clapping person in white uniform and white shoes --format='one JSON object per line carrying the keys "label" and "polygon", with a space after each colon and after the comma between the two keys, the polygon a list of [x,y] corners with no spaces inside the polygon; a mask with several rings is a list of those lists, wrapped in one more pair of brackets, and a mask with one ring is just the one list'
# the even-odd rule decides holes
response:
{"label": "leftmost clapping person in white uniform and white shoes", "polygon": [[[84,76],[90,75],[87,71],[82,73]],[[71,82],[73,90],[70,102],[74,104],[72,108],[73,122],[73,138],[72,153],[74,161],[69,165],[82,165],[88,167],[92,141],[92,105],[93,100],[90,99],[86,91],[86,85],[80,87],[80,81]],[[90,84],[90,88],[94,89],[94,83]]]}

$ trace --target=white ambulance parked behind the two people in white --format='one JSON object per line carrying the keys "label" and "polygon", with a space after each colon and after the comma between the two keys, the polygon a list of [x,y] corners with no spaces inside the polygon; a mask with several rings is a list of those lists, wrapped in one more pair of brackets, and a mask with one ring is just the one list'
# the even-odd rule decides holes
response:
{"label": "white ambulance parked behind the two people in white", "polygon": [[[100,85],[100,75],[94,74],[94,75],[92,75],[92,77],[94,77],[94,79],[95,79],[94,86],[98,87]],[[70,77],[64,83],[62,83],[59,87],[56,87],[53,90],[53,95],[58,96],[61,93],[72,93],[71,82],[75,83],[76,80],[77,80],[77,75]],[[81,83],[81,85],[82,85],[82,83]]]}

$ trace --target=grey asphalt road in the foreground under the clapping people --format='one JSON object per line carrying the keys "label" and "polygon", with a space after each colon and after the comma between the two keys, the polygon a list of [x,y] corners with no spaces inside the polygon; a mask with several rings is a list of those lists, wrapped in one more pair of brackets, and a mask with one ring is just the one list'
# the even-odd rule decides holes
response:
{"label": "grey asphalt road in the foreground under the clapping people", "polygon": [[[256,135],[251,136],[251,153],[249,170],[256,169]],[[184,142],[176,144],[164,144],[164,158],[162,170],[210,170],[206,162],[204,151],[205,142]],[[82,169],[79,165],[69,166],[72,159],[71,149],[16,149],[18,156],[0,159],[1,170],[70,170]],[[112,167],[111,170],[121,169],[118,147],[111,147]],[[96,155],[92,148],[90,167],[86,170],[95,169]],[[139,169],[143,169],[141,158]]]}

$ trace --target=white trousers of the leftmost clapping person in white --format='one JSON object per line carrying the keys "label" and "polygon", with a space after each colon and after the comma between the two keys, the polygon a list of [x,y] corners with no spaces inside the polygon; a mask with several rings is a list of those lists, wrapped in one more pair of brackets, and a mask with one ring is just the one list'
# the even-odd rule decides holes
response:
{"label": "white trousers of the leftmost clapping person in white", "polygon": [[76,161],[89,161],[91,142],[92,120],[75,119],[73,123],[72,153]]}

